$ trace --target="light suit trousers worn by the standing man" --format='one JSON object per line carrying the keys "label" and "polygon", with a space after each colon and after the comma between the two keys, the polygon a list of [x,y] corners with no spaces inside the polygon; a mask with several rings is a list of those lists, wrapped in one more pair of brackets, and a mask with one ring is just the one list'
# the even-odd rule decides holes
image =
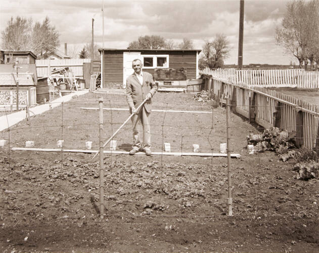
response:
{"label": "light suit trousers worn by the standing man", "polygon": [[[151,148],[151,126],[150,113],[145,110],[145,107],[140,110],[138,114],[131,117],[133,125],[133,148],[134,149],[150,149]],[[141,142],[139,123],[143,125],[143,142]]]}

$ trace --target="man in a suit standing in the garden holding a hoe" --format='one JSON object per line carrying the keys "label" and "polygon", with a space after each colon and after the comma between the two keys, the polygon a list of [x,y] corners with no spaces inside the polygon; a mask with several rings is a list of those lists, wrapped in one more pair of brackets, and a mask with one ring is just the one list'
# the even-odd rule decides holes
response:
{"label": "man in a suit standing in the garden holding a hoe", "polygon": [[[129,105],[129,112],[134,113],[131,117],[133,125],[133,145],[130,155],[138,151],[145,151],[146,155],[151,155],[151,127],[150,127],[150,113],[152,97],[157,92],[157,85],[150,73],[142,71],[142,61],[135,59],[132,61],[132,68],[134,73],[129,75],[126,79],[126,101]],[[139,109],[139,105],[145,100],[147,101]],[[140,140],[138,123],[143,125],[143,143]]]}

